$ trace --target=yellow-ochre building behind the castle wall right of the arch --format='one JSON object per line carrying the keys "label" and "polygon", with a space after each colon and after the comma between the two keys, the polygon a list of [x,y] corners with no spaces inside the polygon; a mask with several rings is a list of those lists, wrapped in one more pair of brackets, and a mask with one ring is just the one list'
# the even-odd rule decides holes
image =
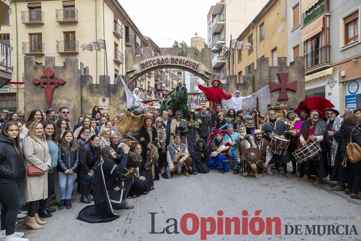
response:
{"label": "yellow-ochre building behind the castle wall right of the arch", "polygon": [[[269,66],[277,66],[277,57],[287,57],[287,42],[283,38],[287,34],[286,0],[269,0],[257,16],[238,36],[237,41],[250,43],[249,50],[232,50],[234,74],[237,82],[243,83],[242,76],[248,73],[248,66],[257,59],[269,58]],[[232,74],[232,61],[229,51],[225,52],[226,74]]]}

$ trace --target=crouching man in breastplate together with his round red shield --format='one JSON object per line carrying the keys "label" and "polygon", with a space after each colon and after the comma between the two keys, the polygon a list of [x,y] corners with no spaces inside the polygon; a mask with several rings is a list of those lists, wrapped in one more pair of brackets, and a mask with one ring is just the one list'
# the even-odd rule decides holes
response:
{"label": "crouching man in breastplate together with his round red shield", "polygon": [[237,162],[235,163],[235,172],[233,174],[237,174],[236,170],[239,168],[244,177],[247,177],[248,173],[252,172],[253,177],[258,178],[257,165],[262,167],[262,163],[259,163],[261,158],[260,151],[257,149],[253,136],[247,134],[245,125],[239,126],[238,130],[239,137],[236,140]]}

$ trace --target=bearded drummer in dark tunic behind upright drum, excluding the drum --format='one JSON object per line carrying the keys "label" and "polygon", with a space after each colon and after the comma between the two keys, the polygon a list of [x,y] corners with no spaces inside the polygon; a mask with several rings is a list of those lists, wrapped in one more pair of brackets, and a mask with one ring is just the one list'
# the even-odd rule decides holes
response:
{"label": "bearded drummer in dark tunic behind upright drum, excluding the drum", "polygon": [[[286,124],[284,124],[283,121],[276,119],[276,112],[274,110],[268,111],[269,121],[266,122],[263,127],[262,131],[263,137],[266,138],[268,141],[271,141],[273,137],[279,137],[281,139],[285,139],[288,137],[288,128]],[[286,154],[284,156],[274,154],[274,159],[276,161],[276,169],[277,172],[273,173],[273,176],[278,176],[280,174],[279,172],[279,165],[282,164],[284,174],[283,176],[287,178],[291,178],[290,173],[287,172],[287,163],[290,162],[290,155],[288,154],[288,151],[286,150]]]}

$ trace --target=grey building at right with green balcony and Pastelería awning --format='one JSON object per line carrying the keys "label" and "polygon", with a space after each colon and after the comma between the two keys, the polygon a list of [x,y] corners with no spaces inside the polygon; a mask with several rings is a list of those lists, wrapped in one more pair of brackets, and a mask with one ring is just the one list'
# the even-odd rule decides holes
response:
{"label": "grey building at right with green balcony and Pasteler\u00eda awning", "polygon": [[361,106],[358,0],[287,0],[288,61],[305,57],[305,97],[322,96],[343,112]]}

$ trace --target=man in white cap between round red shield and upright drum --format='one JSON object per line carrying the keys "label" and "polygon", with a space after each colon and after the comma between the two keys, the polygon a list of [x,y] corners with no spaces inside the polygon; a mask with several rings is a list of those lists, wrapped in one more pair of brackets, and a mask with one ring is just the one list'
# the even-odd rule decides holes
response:
{"label": "man in white cap between round red shield and upright drum", "polygon": [[260,165],[262,164],[262,166],[257,166],[258,173],[261,173],[262,167],[264,167],[268,174],[273,174],[270,169],[275,164],[275,160],[273,158],[273,153],[269,151],[270,142],[262,136],[262,133],[264,132],[259,129],[256,129],[255,133],[253,133],[253,135],[255,135],[257,149],[261,152]]}

